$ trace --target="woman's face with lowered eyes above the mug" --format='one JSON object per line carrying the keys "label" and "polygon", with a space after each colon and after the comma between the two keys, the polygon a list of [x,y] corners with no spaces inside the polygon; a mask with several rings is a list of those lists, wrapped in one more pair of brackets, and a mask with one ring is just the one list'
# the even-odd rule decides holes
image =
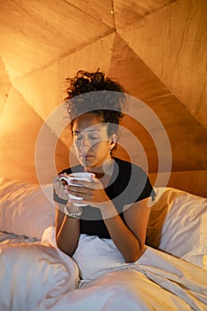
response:
{"label": "woman's face with lowered eyes above the mug", "polygon": [[79,162],[88,168],[102,168],[111,158],[113,142],[107,136],[107,124],[95,114],[78,116],[73,124],[73,139]]}

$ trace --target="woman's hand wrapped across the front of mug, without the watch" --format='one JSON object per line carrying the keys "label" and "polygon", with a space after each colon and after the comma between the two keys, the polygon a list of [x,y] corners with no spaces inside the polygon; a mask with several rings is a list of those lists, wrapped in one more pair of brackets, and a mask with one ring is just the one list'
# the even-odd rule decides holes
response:
{"label": "woman's hand wrapped across the front of mug, without the watch", "polygon": [[[83,198],[81,203],[100,208],[110,201],[102,182],[94,176],[92,176],[92,181],[73,179],[72,183],[74,185],[65,186],[68,190],[68,195],[75,195]],[[69,201],[71,203],[80,203],[80,200],[76,199],[69,199]]]}

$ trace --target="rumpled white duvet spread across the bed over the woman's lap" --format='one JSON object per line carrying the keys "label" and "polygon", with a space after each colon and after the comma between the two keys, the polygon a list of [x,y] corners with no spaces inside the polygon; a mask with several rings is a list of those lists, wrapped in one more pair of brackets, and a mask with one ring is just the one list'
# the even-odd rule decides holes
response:
{"label": "rumpled white duvet spread across the bed over the woman's lap", "polygon": [[207,310],[207,271],[163,251],[147,247],[125,264],[111,240],[81,235],[71,259],[57,248],[54,227],[41,243],[7,241],[0,247],[1,311]]}

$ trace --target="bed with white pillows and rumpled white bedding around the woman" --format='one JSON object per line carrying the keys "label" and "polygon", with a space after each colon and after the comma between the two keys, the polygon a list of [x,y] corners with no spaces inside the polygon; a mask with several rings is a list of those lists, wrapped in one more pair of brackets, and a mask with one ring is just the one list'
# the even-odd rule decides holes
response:
{"label": "bed with white pillows and rumpled white bedding around the woman", "polygon": [[123,262],[111,240],[57,248],[52,185],[0,179],[0,310],[207,310],[207,199],[157,187],[146,251]]}

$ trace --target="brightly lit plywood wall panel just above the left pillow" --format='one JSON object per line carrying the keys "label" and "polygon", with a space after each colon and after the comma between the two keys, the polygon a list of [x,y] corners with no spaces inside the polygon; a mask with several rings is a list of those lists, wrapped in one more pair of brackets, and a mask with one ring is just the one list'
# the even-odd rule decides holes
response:
{"label": "brightly lit plywood wall panel just above the left pillow", "polygon": [[[36,112],[12,88],[0,118],[0,176],[28,182],[37,181],[36,139],[42,125],[43,120],[40,116],[36,115]],[[42,171],[47,175],[47,179],[44,179],[45,182],[51,181],[48,178],[50,171],[46,171],[46,164],[55,157],[55,149],[53,155],[46,150],[52,144],[52,140],[58,141],[55,135],[50,135],[49,138],[51,139],[42,145],[44,150],[44,157],[41,159]],[[66,154],[66,148],[64,150],[63,148],[60,144],[60,151],[56,157],[58,161],[64,163],[64,156],[61,155]]]}

